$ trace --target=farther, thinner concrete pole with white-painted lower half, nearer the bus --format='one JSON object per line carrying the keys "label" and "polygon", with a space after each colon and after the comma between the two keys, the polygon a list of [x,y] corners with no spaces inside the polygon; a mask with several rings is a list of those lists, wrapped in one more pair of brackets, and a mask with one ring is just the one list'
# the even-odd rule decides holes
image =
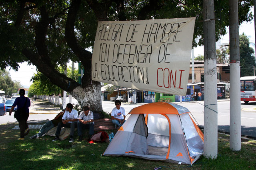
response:
{"label": "farther, thinner concrete pole with white-painted lower half, nearer the bus", "polygon": [[238,1],[229,0],[231,150],[241,150],[240,55],[238,32]]}

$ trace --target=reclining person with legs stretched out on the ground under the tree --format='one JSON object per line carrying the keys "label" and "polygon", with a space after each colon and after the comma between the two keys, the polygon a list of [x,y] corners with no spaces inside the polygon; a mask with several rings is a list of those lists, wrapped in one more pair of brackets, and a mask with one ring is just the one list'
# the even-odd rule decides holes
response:
{"label": "reclining person with legs stretched out on the ground under the tree", "polygon": [[41,127],[39,133],[30,137],[30,139],[39,138],[42,135],[44,135],[46,132],[48,132],[50,129],[57,126],[58,123],[61,122],[62,116],[64,115],[65,111],[66,111],[65,109],[62,109],[62,112],[58,113],[58,115],[56,115],[56,117],[54,117],[54,119],[44,123],[44,125]]}

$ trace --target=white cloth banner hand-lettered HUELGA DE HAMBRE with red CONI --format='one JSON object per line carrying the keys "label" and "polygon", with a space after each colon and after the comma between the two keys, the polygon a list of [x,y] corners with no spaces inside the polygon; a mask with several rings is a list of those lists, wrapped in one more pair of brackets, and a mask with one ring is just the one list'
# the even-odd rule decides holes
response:
{"label": "white cloth banner hand-lettered HUELGA DE HAMBRE with red CONI", "polygon": [[186,95],[195,19],[99,21],[92,80]]}

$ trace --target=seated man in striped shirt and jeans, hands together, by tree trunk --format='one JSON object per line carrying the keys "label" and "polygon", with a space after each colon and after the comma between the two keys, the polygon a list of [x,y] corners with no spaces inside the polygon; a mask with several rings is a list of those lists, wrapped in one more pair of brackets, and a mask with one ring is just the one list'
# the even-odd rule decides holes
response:
{"label": "seated man in striped shirt and jeans, hands together, by tree trunk", "polygon": [[90,137],[94,133],[94,122],[93,122],[93,113],[90,111],[90,108],[88,106],[84,106],[83,111],[80,112],[79,119],[77,122],[77,130],[78,130],[78,136],[79,140],[82,141],[82,131],[83,129],[89,129],[89,135]]}

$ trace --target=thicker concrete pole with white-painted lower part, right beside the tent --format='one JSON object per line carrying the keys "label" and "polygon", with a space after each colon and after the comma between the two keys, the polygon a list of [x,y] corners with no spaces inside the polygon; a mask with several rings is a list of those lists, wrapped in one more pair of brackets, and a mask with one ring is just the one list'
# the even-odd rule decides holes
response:
{"label": "thicker concrete pole with white-painted lower part, right beside the tent", "polygon": [[204,18],[204,156],[217,158],[217,67],[214,0],[203,0]]}

